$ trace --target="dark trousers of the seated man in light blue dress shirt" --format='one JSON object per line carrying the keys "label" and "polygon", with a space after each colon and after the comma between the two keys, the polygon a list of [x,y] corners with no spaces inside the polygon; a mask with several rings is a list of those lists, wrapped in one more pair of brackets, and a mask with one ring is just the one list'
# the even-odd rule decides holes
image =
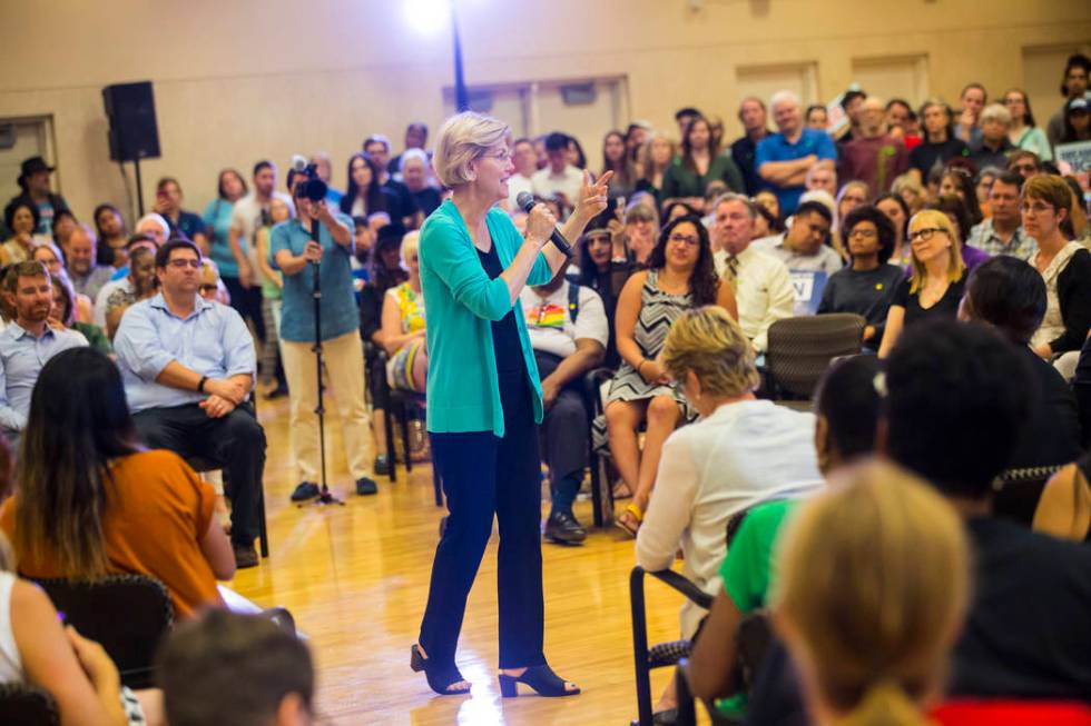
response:
{"label": "dark trousers of the seated man in light blue dress shirt", "polygon": [[132,421],[149,448],[169,449],[187,460],[200,457],[224,469],[230,486],[232,544],[253,547],[265,474],[265,430],[254,407],[243,404],[223,418],[209,418],[197,404],[148,408],[134,414]]}

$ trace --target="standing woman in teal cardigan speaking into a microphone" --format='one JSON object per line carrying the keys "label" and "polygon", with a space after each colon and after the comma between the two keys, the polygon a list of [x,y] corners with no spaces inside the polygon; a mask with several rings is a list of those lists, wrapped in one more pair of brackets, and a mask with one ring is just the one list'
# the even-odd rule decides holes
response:
{"label": "standing woman in teal cardigan speaking into a microphone", "polygon": [[[500,689],[523,683],[542,696],[579,689],[561,680],[542,650],[538,424],[542,394],[519,291],[544,285],[566,257],[547,246],[557,219],[535,206],[521,236],[497,202],[513,173],[502,121],[465,112],[440,129],[433,166],[452,198],[421,230],[421,287],[429,311],[427,427],[446,494],[446,528],[435,549],[427,607],[411,665],[438,694],[465,694],[454,663],[466,596],[500,523]],[[606,173],[584,173],[576,210],[561,227],[578,239],[606,209]]]}

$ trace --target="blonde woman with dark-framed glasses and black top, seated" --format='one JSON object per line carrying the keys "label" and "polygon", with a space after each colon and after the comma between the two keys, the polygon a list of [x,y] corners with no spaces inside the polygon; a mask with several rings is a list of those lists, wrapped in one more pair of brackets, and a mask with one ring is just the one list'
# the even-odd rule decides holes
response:
{"label": "blonde woman with dark-framed glasses and black top, seated", "polygon": [[906,327],[921,320],[956,317],[966,286],[962,240],[945,213],[925,209],[913,215],[906,238],[912,250],[912,274],[898,286],[886,314],[879,358],[889,355]]}

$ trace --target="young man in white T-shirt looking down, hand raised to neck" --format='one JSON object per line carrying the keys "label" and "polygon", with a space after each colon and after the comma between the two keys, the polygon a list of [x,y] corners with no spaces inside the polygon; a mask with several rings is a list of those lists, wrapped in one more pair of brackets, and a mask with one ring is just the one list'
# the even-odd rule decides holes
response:
{"label": "young man in white T-shirt looking down, hand raised to neck", "polygon": [[841,256],[825,243],[833,216],[822,202],[805,201],[789,221],[788,231],[758,240],[755,247],[787,266],[796,296],[795,314],[814,315],[826,280],[844,267]]}

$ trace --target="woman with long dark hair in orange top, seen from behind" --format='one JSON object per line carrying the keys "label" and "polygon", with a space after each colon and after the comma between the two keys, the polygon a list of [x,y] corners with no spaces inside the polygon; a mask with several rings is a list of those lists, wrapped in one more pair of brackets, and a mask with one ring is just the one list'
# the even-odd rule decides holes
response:
{"label": "woman with long dark hair in orange top, seen from behind", "polygon": [[235,558],[216,493],[176,454],[137,439],[117,366],[73,348],[41,369],[22,435],[14,497],[0,527],[35,579],[114,573],[164,583],[187,617],[223,604]]}

